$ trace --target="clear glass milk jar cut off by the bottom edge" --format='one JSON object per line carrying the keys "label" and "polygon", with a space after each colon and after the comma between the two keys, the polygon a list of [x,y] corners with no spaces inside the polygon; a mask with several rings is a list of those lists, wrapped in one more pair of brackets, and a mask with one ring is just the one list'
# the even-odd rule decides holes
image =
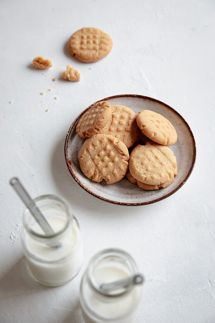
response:
{"label": "clear glass milk jar cut off by the bottom edge", "polygon": [[85,323],[134,323],[138,317],[142,286],[104,294],[101,284],[138,273],[133,258],[120,249],[107,249],[89,263],[80,285],[80,303]]}

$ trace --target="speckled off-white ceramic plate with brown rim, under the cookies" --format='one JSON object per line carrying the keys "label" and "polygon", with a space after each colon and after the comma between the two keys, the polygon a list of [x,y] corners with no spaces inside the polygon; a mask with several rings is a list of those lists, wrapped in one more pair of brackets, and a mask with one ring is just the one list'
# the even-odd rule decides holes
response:
{"label": "speckled off-white ceramic plate with brown rim, under the cookies", "polygon": [[65,157],[69,172],[75,181],[93,196],[119,205],[151,204],[161,201],[178,191],[189,178],[196,160],[195,139],[184,118],[167,104],[142,95],[116,95],[99,101],[103,100],[110,102],[112,105],[124,105],[132,109],[135,113],[138,113],[141,110],[152,110],[166,117],[173,124],[178,134],[176,143],[169,146],[177,159],[178,175],[175,176],[175,181],[168,187],[154,191],[142,190],[137,185],[129,182],[126,177],[117,183],[109,185],[104,180],[100,183],[96,183],[88,179],[81,172],[78,162],[78,151],[85,140],[78,138],[76,135],[76,126],[83,113],[90,109],[91,106],[96,103],[95,102],[79,114],[67,133]]}

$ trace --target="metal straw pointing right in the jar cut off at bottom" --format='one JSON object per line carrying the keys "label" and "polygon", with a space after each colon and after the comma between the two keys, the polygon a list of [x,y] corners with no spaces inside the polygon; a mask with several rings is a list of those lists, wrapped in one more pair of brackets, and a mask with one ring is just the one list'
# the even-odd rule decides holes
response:
{"label": "metal straw pointing right in the jar cut off at bottom", "polygon": [[142,284],[143,282],[144,277],[141,274],[138,274],[125,279],[116,280],[112,283],[101,284],[100,288],[103,289],[106,293],[111,293],[121,288],[128,288],[132,287],[133,285]]}

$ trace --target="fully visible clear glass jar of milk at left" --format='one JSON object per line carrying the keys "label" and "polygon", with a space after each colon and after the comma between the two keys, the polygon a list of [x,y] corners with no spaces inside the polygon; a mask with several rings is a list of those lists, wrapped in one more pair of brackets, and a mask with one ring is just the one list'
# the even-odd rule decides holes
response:
{"label": "fully visible clear glass jar of milk at left", "polygon": [[34,202],[55,234],[46,236],[29,210],[24,211],[21,243],[28,267],[42,284],[66,284],[77,276],[83,263],[78,222],[62,197],[43,195]]}

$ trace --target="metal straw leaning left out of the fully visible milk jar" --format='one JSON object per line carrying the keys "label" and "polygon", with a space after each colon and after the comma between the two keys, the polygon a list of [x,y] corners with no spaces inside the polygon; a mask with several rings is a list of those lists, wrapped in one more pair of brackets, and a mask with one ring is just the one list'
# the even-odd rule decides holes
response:
{"label": "metal straw leaning left out of the fully visible milk jar", "polygon": [[46,218],[43,216],[43,214],[40,212],[34,201],[30,198],[22,184],[19,182],[18,178],[12,178],[10,180],[10,184],[13,186],[14,190],[19,195],[21,200],[25,203],[28,210],[31,212],[31,214],[33,215],[39,226],[42,228],[44,233],[46,235],[55,234],[51,226],[46,221]]}

